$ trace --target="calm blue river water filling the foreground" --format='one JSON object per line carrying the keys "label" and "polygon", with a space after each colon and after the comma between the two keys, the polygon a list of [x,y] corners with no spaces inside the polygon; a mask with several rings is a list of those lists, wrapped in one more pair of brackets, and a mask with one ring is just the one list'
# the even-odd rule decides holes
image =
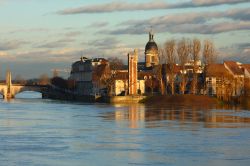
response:
{"label": "calm blue river water filling the foreground", "polygon": [[[32,97],[27,99],[26,97]],[[250,111],[0,101],[1,166],[248,166]]]}

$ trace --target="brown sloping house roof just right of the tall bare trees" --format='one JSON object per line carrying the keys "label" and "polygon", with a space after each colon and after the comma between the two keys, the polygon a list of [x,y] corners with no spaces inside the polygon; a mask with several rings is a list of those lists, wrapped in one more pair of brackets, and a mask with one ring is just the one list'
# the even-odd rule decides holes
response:
{"label": "brown sloping house roof just right of the tall bare trees", "polygon": [[210,64],[206,68],[207,77],[222,77],[230,75],[224,64]]}

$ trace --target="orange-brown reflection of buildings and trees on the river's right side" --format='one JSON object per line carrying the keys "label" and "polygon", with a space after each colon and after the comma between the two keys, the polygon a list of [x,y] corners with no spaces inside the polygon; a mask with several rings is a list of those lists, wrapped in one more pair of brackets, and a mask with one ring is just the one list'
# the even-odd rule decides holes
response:
{"label": "orange-brown reflection of buildings and trees on the river's right side", "polygon": [[[178,123],[203,124],[205,128],[241,128],[250,127],[250,111],[239,107],[217,106],[185,106],[169,105],[153,107],[145,105],[130,105],[116,107],[114,112],[104,114],[104,119],[116,122],[128,122],[129,128],[159,127],[154,121],[176,121]],[[155,125],[157,124],[157,125]],[[167,123],[166,123],[167,125]]]}

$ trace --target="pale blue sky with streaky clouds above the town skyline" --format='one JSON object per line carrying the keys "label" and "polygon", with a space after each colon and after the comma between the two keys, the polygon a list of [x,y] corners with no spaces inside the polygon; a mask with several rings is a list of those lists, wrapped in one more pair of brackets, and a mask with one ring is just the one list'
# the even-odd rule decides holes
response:
{"label": "pale blue sky with streaky clouds above the town skyline", "polygon": [[212,40],[220,61],[250,63],[250,0],[0,0],[0,78],[69,76],[81,56],[118,57],[155,42]]}

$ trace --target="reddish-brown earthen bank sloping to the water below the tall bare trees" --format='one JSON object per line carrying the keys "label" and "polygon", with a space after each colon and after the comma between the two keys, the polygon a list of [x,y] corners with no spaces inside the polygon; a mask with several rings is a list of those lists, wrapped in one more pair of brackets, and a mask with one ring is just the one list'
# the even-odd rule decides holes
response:
{"label": "reddish-brown earthen bank sloping to the water below the tall bare trees", "polygon": [[216,105],[218,100],[213,97],[203,95],[166,95],[166,96],[148,96],[141,103],[147,105],[179,105],[179,104],[190,104],[190,105]]}

